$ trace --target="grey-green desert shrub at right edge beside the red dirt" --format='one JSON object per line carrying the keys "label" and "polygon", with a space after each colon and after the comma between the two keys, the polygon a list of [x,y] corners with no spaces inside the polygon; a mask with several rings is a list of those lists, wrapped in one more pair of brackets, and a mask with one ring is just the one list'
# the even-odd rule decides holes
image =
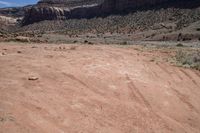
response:
{"label": "grey-green desert shrub at right edge beside the red dirt", "polygon": [[184,52],[179,50],[176,53],[176,61],[181,66],[187,66],[200,70],[200,52]]}

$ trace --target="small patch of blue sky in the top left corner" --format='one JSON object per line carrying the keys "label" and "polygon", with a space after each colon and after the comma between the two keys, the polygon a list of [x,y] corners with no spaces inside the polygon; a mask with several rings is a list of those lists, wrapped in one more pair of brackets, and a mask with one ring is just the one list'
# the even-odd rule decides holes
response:
{"label": "small patch of blue sky in the top left corner", "polygon": [[38,0],[0,0],[0,8],[35,4]]}

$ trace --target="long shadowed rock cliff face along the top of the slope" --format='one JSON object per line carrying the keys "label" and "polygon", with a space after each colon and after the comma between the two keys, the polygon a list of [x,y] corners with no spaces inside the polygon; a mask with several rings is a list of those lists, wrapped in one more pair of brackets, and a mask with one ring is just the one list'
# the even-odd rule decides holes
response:
{"label": "long shadowed rock cliff face along the top of the slope", "polygon": [[[111,13],[123,13],[134,9],[162,5],[168,1],[186,0],[41,0],[26,11],[23,25],[43,20],[65,20],[70,18],[91,18]],[[198,0],[191,0],[192,3]],[[199,2],[198,2],[199,3]]]}

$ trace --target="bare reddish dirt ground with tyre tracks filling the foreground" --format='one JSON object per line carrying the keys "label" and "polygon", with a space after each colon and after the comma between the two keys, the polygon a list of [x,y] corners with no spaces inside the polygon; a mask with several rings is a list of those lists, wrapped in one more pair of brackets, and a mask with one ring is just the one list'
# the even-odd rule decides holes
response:
{"label": "bare reddish dirt ground with tyre tracks filling the foreground", "polygon": [[0,53],[0,133],[200,132],[200,72],[151,62],[154,53],[46,44]]}

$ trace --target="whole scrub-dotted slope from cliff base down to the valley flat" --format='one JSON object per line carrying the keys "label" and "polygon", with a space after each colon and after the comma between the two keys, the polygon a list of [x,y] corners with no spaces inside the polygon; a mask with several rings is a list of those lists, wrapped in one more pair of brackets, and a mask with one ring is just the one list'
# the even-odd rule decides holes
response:
{"label": "whole scrub-dotted slope from cliff base down to the valley flat", "polygon": [[[127,35],[128,40],[165,41],[177,41],[181,33],[181,40],[198,40],[200,38],[199,21],[200,8],[180,9],[170,7],[90,19],[46,20],[15,28],[14,31],[13,28],[12,32],[20,34],[24,34],[24,32],[31,34],[32,32],[37,34],[54,32],[70,36],[88,33],[96,36],[109,33],[111,34],[109,36],[120,34],[119,39],[121,40],[124,40],[123,35]],[[191,25],[196,26],[190,28]],[[86,39],[88,40],[88,38]],[[74,41],[76,40],[75,38]]]}

